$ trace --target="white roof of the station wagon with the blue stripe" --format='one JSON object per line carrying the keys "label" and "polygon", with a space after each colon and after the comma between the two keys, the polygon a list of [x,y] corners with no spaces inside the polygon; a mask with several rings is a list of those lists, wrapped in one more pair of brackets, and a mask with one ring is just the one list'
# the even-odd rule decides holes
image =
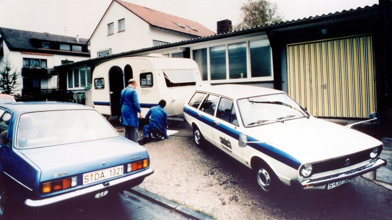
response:
{"label": "white roof of the station wagon with the blue stripe", "polygon": [[196,89],[196,91],[215,93],[217,95],[226,96],[232,99],[285,93],[283,91],[276,90],[276,89],[269,89],[269,88],[259,87],[259,86],[237,85],[237,84],[216,85],[216,86],[203,88],[200,90]]}

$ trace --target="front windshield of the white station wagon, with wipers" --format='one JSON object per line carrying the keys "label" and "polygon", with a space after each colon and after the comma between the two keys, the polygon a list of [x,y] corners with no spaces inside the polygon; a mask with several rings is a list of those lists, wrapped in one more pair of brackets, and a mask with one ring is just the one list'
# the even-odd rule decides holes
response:
{"label": "front windshield of the white station wagon, with wipers", "polygon": [[245,127],[309,118],[298,103],[283,93],[239,99],[237,104]]}

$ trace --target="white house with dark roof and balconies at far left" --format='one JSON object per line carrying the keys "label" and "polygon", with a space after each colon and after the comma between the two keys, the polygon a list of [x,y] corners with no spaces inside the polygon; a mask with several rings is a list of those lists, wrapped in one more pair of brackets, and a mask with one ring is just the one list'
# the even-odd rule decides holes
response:
{"label": "white house with dark roof and balconies at far left", "polygon": [[[51,93],[58,88],[53,66],[88,59],[87,41],[78,36],[0,27],[0,69],[4,68],[8,59],[12,71],[20,74],[20,94]],[[71,74],[78,79],[71,87],[82,87],[91,77],[89,67],[75,68]]]}

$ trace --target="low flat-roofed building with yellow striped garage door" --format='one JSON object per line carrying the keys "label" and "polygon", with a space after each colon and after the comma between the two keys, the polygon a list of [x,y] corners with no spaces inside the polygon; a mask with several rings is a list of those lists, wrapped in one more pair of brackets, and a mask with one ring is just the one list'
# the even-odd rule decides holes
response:
{"label": "low flat-roofed building with yellow striped garage door", "polygon": [[[120,57],[184,49],[211,84],[279,89],[321,118],[366,119],[379,113],[392,131],[390,1],[334,14],[218,33],[55,67],[95,66]],[[124,70],[124,66],[120,67]],[[235,89],[235,87],[233,87]]]}

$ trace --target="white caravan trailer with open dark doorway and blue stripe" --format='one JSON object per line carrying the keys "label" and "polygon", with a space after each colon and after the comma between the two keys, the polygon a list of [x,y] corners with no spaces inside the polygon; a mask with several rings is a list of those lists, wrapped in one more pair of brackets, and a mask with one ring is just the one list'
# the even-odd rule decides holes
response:
{"label": "white caravan trailer with open dark doorway and blue stripe", "polygon": [[93,72],[92,101],[102,115],[120,116],[120,93],[135,79],[142,114],[158,105],[167,104],[167,115],[182,116],[184,103],[195,88],[210,86],[202,82],[195,61],[186,58],[128,57],[98,65]]}

